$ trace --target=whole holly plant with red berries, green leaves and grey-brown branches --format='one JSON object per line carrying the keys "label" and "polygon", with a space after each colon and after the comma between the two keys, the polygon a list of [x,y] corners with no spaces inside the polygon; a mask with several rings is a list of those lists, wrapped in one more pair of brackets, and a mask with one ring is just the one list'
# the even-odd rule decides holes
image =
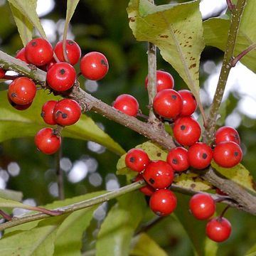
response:
{"label": "whole holly plant with red berries, green leaves and grey-brown branches", "polygon": [[[230,70],[240,61],[256,71],[256,2],[227,0],[224,16],[203,21],[198,0],[162,5],[129,0],[127,19],[119,22],[129,26],[132,45],[142,46],[147,71],[137,94],[127,87],[118,95],[116,84],[104,85],[113,86],[112,104],[82,86],[84,81],[100,85],[103,96],[101,83],[112,70],[114,58],[109,56],[115,49],[94,48],[94,43],[86,48],[82,40],[70,38],[79,0],[67,1],[58,41],[47,38],[36,0],[8,3],[23,47],[16,55],[0,51],[0,141],[33,137],[30,151],[38,159],[53,159],[54,154],[58,201],[31,206],[22,202],[22,191],[3,191],[0,255],[174,255],[167,241],[168,223],[174,229],[183,226],[195,255],[224,255],[230,241],[238,240],[230,211],[248,218],[256,215],[253,174],[241,164],[243,154],[250,152],[238,130],[225,125],[223,111]],[[209,105],[200,93],[206,46],[224,52]],[[159,68],[160,61],[172,72]],[[145,106],[142,95],[148,98]],[[139,142],[133,140],[124,151],[123,135],[112,133],[120,139],[116,142],[94,121],[97,115],[109,119],[101,119],[103,124],[117,123],[138,134]],[[73,191],[65,199],[60,159],[72,154],[72,149],[65,151],[66,137],[76,139],[78,147],[84,141],[96,142],[117,155],[112,172],[120,176],[122,186]],[[106,158],[105,166],[110,161]],[[33,182],[23,185],[30,188]],[[95,210],[105,202],[106,216],[92,225]],[[16,208],[27,211],[16,215]],[[255,245],[250,247],[242,252],[256,255]]]}

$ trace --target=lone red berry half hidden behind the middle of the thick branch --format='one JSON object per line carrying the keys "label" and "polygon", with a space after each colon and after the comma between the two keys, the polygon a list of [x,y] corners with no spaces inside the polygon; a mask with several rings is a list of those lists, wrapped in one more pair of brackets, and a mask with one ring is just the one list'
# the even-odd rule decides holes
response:
{"label": "lone red berry half hidden behind the middle of the thick branch", "polygon": [[136,117],[139,111],[139,103],[132,95],[119,95],[113,102],[113,107],[124,114]]}

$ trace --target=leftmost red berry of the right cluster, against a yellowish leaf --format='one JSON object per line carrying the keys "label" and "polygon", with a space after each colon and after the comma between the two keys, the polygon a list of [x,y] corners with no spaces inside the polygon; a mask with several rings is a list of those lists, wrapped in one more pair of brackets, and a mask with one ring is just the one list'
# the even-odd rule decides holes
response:
{"label": "leftmost red berry of the right cluster, against a yellowish leaf", "polygon": [[133,171],[143,171],[149,161],[149,156],[143,149],[130,149],[125,156],[126,166]]}

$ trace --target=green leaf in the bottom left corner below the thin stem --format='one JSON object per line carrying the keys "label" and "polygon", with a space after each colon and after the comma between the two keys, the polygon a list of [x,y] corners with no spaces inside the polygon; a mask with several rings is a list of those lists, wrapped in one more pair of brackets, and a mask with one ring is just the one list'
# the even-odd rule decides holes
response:
{"label": "green leaf in the bottom left corner below the thin stem", "polygon": [[0,240],[0,255],[53,255],[55,236],[64,218],[48,218],[41,220],[32,230],[9,233]]}

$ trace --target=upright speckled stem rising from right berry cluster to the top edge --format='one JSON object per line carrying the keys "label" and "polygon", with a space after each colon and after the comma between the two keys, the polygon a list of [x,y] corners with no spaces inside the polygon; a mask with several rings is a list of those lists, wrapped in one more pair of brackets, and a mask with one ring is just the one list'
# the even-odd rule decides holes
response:
{"label": "upright speckled stem rising from right berry cluster to the top edge", "polygon": [[235,9],[231,14],[230,29],[228,31],[228,43],[224,53],[223,65],[220,70],[220,77],[218,80],[218,85],[215,91],[215,95],[213,97],[213,103],[210,106],[210,113],[208,116],[208,120],[206,122],[207,124],[206,131],[203,134],[203,140],[208,144],[210,144],[214,140],[216,118],[218,116],[220,103],[223,99],[223,94],[225,91],[225,85],[228,80],[228,75],[230,73],[230,69],[232,68],[232,65],[230,65],[230,62],[233,59],[235,42],[238,36],[238,29],[240,26],[242,12],[245,8],[245,4],[246,4],[246,0],[238,0],[238,3],[236,4]]}

